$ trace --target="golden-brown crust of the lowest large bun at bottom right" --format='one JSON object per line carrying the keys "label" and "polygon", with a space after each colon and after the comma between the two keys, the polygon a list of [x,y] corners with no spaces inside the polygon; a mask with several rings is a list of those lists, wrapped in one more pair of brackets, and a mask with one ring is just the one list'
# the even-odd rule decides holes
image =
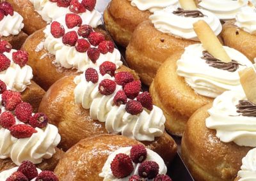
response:
{"label": "golden-brown crust of the lowest large bun at bottom right", "polygon": [[195,180],[234,180],[242,159],[252,147],[224,143],[216,131],[205,126],[211,104],[197,110],[188,120],[182,138],[182,159]]}

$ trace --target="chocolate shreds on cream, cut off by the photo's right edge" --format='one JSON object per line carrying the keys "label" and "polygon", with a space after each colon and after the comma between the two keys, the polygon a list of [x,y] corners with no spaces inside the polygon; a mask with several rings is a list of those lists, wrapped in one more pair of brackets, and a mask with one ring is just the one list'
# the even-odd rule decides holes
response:
{"label": "chocolate shreds on cream, cut off by the photo's right edge", "polygon": [[241,100],[236,108],[237,113],[241,113],[241,115],[256,117],[256,105],[250,101]]}

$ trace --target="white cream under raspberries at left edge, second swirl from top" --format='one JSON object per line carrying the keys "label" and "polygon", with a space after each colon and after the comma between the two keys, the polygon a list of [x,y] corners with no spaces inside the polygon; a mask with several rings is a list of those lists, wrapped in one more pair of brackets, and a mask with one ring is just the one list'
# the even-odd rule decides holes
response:
{"label": "white cream under raspberries at left edge, second swirl from top", "polygon": [[28,65],[20,67],[19,64],[15,64],[12,60],[13,52],[17,52],[17,50],[12,49],[9,53],[4,52],[4,55],[10,59],[11,65],[8,69],[0,72],[0,80],[6,83],[10,90],[23,92],[31,84],[33,71]]}

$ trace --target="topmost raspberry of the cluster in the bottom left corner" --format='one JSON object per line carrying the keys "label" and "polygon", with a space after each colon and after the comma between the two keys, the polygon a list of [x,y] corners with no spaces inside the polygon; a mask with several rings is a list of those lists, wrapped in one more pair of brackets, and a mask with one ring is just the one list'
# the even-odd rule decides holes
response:
{"label": "topmost raspberry of the cluster in the bottom left corner", "polygon": [[38,176],[36,166],[31,161],[22,161],[18,168],[18,171],[23,173],[28,178],[28,180],[32,180],[33,178]]}

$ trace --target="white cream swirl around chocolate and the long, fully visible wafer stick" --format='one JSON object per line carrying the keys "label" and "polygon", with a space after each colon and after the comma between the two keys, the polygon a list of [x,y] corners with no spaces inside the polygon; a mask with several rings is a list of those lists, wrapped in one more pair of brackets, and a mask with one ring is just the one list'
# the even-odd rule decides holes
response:
{"label": "white cream swirl around chocolate and the long, fully visible wafer stick", "polygon": [[230,72],[209,66],[205,59],[202,59],[202,44],[195,44],[186,47],[184,54],[177,61],[177,74],[184,76],[186,83],[202,96],[216,98],[225,91],[235,89],[241,85],[238,72],[252,66],[252,62],[234,48],[223,48],[232,60],[241,64],[236,71]]}

